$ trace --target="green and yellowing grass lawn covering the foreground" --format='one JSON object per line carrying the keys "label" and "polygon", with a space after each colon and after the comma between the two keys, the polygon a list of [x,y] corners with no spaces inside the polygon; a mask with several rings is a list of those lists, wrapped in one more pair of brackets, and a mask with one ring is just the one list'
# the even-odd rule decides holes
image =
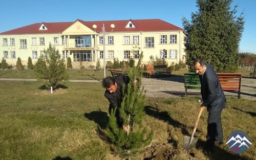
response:
{"label": "green and yellowing grass lawn covering the foreground", "polygon": [[[74,77],[71,79],[93,74],[98,79],[103,77],[102,71],[99,74],[94,71],[69,72]],[[174,74],[183,75],[184,72]],[[28,75],[35,78],[32,73],[31,70],[24,73],[1,71],[0,78],[25,78]],[[100,83],[68,82],[66,89],[59,88],[52,95],[49,90],[40,90],[41,85],[37,81],[0,81],[0,159],[121,159],[112,152],[98,130],[98,127],[102,130],[106,127],[109,106]],[[191,135],[200,110],[199,98],[146,99],[143,124],[147,130],[154,131],[154,136],[152,144],[144,149],[152,155],[172,157],[166,159],[255,159],[256,103],[244,99],[227,99],[228,106],[222,113],[224,143],[231,132],[242,130],[250,136],[250,149],[235,154],[226,145],[221,145],[204,153],[206,111],[202,113],[195,134],[199,138],[196,147],[189,152],[183,149],[184,135]],[[170,149],[154,150],[163,144]],[[146,158],[144,152],[132,159],[152,158]]]}

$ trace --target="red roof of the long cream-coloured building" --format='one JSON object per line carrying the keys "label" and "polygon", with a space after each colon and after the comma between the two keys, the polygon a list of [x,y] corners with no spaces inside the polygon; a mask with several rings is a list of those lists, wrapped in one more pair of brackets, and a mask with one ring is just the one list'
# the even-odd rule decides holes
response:
{"label": "red roof of the long cream-coloured building", "polygon": [[[105,31],[111,31],[111,24],[115,25],[115,29],[113,32],[140,32],[140,31],[177,31],[182,30],[177,26],[169,24],[166,21],[161,19],[138,19],[138,20],[106,20],[106,21],[83,21],[77,19],[83,25],[88,28],[93,29],[93,25],[97,25],[97,32],[101,32],[101,27],[104,24]],[[74,22],[76,22],[75,20]],[[135,28],[125,28],[125,26],[131,21]],[[0,33],[2,35],[5,34],[47,34],[47,33],[62,33],[67,28],[69,28],[74,22],[41,22],[32,25],[28,25],[25,27],[20,27],[14,30],[6,31]],[[39,27],[44,24],[47,30],[39,30]]]}

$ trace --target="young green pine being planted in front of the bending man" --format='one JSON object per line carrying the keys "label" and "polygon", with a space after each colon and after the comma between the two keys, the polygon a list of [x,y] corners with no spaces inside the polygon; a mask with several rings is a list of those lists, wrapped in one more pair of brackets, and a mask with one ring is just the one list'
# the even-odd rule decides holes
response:
{"label": "young green pine being planted in front of the bending man", "polygon": [[[121,103],[120,113],[124,119],[124,125],[131,128],[130,132],[124,132],[118,128],[115,118],[115,110],[112,110],[110,121],[106,129],[111,142],[115,145],[115,151],[123,157],[134,156],[142,150],[142,146],[148,145],[153,136],[153,131],[147,132],[142,126],[142,120],[145,116],[144,103],[145,91],[141,89],[141,61],[143,53],[140,54],[137,66],[133,66],[128,71],[130,82],[123,94],[125,95]],[[134,87],[134,80],[140,78],[139,84]],[[147,134],[146,134],[147,133]]]}

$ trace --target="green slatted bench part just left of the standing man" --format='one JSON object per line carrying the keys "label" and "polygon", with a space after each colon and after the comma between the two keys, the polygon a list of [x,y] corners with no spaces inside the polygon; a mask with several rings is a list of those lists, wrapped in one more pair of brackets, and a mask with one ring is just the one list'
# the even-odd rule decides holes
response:
{"label": "green slatted bench part just left of the standing man", "polygon": [[198,74],[184,73],[184,79],[185,96],[187,96],[187,89],[201,89],[201,83]]}

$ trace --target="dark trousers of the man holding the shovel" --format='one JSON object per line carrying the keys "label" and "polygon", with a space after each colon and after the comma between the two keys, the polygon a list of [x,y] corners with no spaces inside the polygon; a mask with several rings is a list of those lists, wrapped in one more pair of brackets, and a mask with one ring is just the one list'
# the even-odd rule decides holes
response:
{"label": "dark trousers of the man holding the shovel", "polygon": [[208,113],[208,126],[207,126],[207,138],[206,138],[206,147],[212,149],[214,147],[214,142],[223,143],[223,131],[221,124],[221,112],[210,111]]}

